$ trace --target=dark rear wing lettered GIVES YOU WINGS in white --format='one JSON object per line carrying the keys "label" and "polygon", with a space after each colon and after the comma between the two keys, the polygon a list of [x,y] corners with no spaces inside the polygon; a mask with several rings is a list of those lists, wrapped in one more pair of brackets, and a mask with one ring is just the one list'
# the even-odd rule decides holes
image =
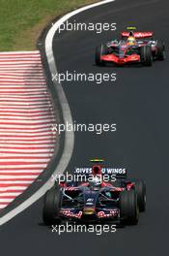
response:
{"label": "dark rear wing lettered GIVES YOU WINGS in white", "polygon": [[[93,174],[92,167],[76,167],[74,170],[74,175],[90,176]],[[125,168],[112,168],[112,167],[102,167],[101,174],[103,176],[114,176],[116,178],[127,178],[127,169]]]}

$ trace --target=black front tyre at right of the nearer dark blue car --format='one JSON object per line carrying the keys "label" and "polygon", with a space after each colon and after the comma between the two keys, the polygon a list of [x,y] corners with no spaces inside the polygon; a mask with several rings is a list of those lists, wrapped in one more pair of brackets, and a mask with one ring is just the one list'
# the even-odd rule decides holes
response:
{"label": "black front tyre at right of the nearer dark blue car", "polygon": [[125,190],[119,198],[121,222],[125,225],[136,225],[139,219],[139,208],[135,190]]}

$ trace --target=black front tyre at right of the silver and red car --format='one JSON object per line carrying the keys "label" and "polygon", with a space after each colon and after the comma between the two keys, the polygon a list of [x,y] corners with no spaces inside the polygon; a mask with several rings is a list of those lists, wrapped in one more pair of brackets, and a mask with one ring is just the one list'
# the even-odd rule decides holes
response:
{"label": "black front tyre at right of the silver and red car", "polygon": [[153,65],[152,49],[149,46],[144,46],[140,48],[140,59],[141,59],[141,63],[144,66]]}

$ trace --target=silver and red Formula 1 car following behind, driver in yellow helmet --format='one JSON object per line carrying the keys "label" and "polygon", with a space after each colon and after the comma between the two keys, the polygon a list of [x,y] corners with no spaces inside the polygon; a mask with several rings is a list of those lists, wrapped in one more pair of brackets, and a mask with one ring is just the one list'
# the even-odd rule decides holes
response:
{"label": "silver and red Formula 1 car following behind, driver in yellow helmet", "polygon": [[123,31],[119,41],[114,40],[96,48],[96,64],[99,66],[105,63],[139,63],[143,66],[152,66],[154,60],[164,59],[164,43],[155,40],[153,32]]}

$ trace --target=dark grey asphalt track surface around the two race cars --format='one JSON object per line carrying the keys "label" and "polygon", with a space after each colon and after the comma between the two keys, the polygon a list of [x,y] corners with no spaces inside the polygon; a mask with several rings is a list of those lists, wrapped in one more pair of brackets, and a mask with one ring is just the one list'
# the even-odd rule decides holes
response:
{"label": "dark grey asphalt track surface around the two race cars", "polygon": [[[169,2],[119,0],[77,16],[85,22],[117,22],[118,31],[130,22],[140,30],[154,30],[169,46]],[[130,21],[130,22],[129,22]],[[1,253],[30,255],[158,255],[168,251],[168,68],[169,59],[147,67],[94,65],[95,46],[116,33],[63,33],[53,42],[59,72],[117,73],[116,83],[63,82],[72,117],[78,123],[114,123],[116,133],[75,134],[69,170],[86,165],[93,156],[113,166],[127,167],[131,176],[147,182],[148,207],[137,226],[115,234],[64,234],[42,225],[42,200],[1,227]],[[63,47],[64,46],[64,47]],[[167,47],[168,49],[168,47]]]}

